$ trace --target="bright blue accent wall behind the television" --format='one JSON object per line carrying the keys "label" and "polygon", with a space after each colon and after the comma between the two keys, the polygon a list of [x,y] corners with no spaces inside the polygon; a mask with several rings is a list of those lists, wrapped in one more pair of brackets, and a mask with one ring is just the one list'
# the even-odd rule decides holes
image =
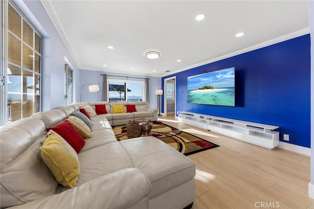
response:
{"label": "bright blue accent wall behind the television", "polygon": [[[310,34],[303,35],[163,77],[162,88],[176,76],[177,111],[279,126],[280,141],[289,134],[285,142],[310,148],[310,45]],[[235,67],[235,107],[187,103],[188,76],[229,67]]]}

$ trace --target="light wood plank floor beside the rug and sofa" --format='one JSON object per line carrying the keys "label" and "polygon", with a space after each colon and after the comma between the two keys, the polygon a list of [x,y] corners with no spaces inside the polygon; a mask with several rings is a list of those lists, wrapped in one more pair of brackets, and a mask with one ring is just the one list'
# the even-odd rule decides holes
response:
{"label": "light wood plank floor beside the rug and sofa", "polygon": [[188,156],[196,165],[193,209],[314,209],[309,156],[198,129],[174,115],[158,120],[220,145]]}

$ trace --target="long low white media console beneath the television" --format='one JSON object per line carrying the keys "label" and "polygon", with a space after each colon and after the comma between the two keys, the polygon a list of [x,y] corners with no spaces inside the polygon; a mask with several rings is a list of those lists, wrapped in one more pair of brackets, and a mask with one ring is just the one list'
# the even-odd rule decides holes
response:
{"label": "long low white media console beneath the television", "polygon": [[270,126],[248,121],[178,111],[178,120],[201,129],[210,130],[264,148],[279,146],[278,126]]}

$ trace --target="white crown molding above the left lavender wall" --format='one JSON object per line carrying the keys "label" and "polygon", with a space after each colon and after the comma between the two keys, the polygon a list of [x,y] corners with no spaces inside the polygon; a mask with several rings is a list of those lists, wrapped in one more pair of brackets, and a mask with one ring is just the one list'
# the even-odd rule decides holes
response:
{"label": "white crown molding above the left lavender wall", "polygon": [[69,43],[69,39],[64,31],[64,28],[61,25],[61,22],[55,12],[55,9],[52,5],[52,1],[51,0],[40,0],[41,3],[43,4],[45,10],[47,11],[50,19],[52,20],[52,23],[54,25],[54,27],[56,28],[56,30],[58,31],[63,43],[65,44],[66,48],[68,49],[68,51],[70,52],[70,54],[72,55],[74,61],[76,62],[76,64],[78,65],[78,68],[81,67],[80,62],[78,61],[77,56],[75,55],[75,53],[73,52],[71,45]]}

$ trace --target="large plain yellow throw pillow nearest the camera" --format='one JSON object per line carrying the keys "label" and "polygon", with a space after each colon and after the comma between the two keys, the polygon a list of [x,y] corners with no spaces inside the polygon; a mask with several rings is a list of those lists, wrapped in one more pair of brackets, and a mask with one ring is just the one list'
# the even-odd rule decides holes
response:
{"label": "large plain yellow throw pillow nearest the camera", "polygon": [[49,131],[39,149],[55,180],[63,186],[75,187],[79,175],[79,161],[78,154],[71,145],[56,132]]}

